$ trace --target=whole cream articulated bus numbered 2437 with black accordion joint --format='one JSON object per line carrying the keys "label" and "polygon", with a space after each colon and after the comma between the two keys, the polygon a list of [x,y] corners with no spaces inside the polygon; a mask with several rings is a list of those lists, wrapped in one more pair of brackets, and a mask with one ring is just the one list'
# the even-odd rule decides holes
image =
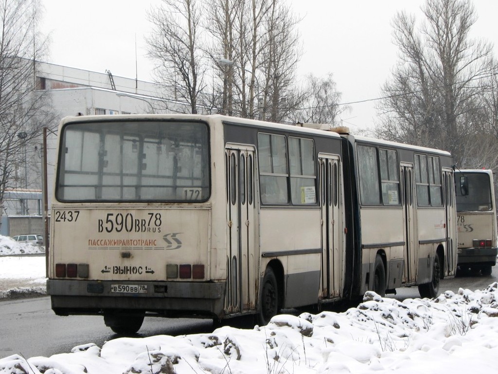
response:
{"label": "whole cream articulated bus numbered 2437 with black accordion joint", "polygon": [[447,152],[221,115],[63,119],[47,292],[58,315],[266,324],[280,308],[456,270]]}

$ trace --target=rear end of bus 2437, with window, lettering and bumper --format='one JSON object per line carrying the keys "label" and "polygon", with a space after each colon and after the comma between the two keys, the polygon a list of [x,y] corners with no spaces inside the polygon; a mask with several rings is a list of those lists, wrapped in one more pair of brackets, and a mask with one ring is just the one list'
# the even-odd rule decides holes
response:
{"label": "rear end of bus 2437, with window, lettering and bumper", "polygon": [[63,120],[47,281],[56,314],[103,315],[134,333],[148,312],[223,311],[224,283],[210,276],[209,133],[187,118]]}

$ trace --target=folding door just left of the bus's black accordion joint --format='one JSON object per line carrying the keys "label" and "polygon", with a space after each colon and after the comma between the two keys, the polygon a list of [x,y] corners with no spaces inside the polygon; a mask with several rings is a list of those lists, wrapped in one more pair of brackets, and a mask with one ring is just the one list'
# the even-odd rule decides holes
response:
{"label": "folding door just left of the bus's black accordion joint", "polygon": [[320,154],[319,193],[322,222],[322,269],[320,298],[341,296],[344,282],[344,233],[341,229],[342,186],[339,157]]}

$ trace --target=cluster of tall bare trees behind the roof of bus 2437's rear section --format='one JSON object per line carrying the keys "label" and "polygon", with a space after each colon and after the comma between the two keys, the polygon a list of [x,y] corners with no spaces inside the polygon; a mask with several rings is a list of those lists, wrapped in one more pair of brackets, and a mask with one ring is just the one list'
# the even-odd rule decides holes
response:
{"label": "cluster of tall bare trees behind the roof of bus 2437's rear section", "polygon": [[282,121],[301,56],[298,19],[282,0],[208,0],[206,13],[214,41],[208,54],[230,61],[218,65],[221,112]]}

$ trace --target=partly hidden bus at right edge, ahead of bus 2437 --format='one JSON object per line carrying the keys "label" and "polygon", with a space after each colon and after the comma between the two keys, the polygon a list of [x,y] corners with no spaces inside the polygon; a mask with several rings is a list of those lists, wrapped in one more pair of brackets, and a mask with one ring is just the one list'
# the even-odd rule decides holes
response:
{"label": "partly hidden bus at right edge, ahead of bus 2437", "polygon": [[491,170],[455,172],[458,267],[491,275],[498,253],[495,187]]}

